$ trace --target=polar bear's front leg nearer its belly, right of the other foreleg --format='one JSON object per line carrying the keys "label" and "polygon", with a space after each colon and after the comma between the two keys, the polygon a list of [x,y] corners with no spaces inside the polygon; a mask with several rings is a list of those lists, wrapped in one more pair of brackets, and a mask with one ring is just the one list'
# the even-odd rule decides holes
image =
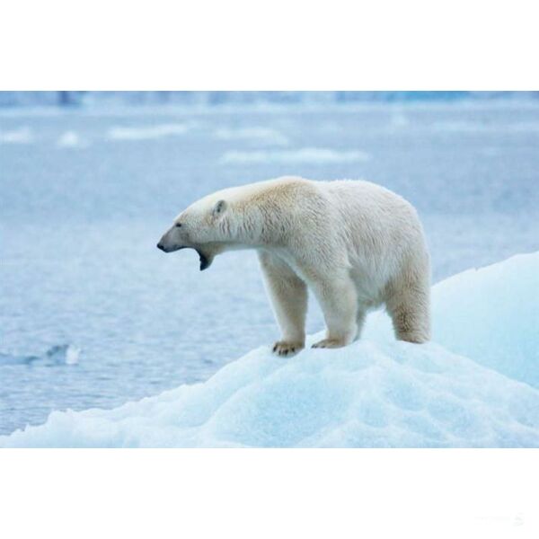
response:
{"label": "polar bear's front leg nearer its belly, right of the other foreleg", "polygon": [[354,282],[347,274],[333,274],[310,283],[320,303],[327,326],[326,338],[313,348],[340,348],[358,333],[358,299]]}

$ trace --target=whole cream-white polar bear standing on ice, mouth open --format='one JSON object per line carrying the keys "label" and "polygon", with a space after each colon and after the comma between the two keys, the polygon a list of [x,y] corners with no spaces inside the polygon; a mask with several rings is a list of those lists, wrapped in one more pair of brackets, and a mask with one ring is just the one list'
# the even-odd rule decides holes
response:
{"label": "whole cream-white polar bear standing on ice, mouth open", "polygon": [[340,348],[359,338],[367,312],[385,305],[397,339],[430,333],[429,252],[409,202],[368,181],[283,177],[220,190],[174,220],[157,243],[192,248],[200,270],[231,249],[258,252],[282,332],[280,356],[305,347],[307,288],[322,307],[325,338]]}

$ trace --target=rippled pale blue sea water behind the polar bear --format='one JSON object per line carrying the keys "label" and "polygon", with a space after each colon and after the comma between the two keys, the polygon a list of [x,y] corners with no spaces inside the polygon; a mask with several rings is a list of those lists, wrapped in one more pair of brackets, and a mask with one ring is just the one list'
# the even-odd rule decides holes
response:
{"label": "rippled pale blue sea water behind the polar bear", "polygon": [[205,380],[276,339],[254,253],[200,273],[155,243],[200,196],[282,174],[411,200],[435,281],[539,250],[536,103],[3,110],[0,433]]}

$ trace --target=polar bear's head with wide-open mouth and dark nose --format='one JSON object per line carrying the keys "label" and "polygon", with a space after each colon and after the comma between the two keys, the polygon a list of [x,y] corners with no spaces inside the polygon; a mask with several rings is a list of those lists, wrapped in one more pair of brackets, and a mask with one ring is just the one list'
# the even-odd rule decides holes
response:
{"label": "polar bear's head with wide-open mouth and dark nose", "polygon": [[199,253],[200,270],[209,268],[214,257],[224,251],[230,225],[225,218],[229,205],[225,199],[206,197],[192,204],[179,216],[157,243],[163,252],[194,249]]}

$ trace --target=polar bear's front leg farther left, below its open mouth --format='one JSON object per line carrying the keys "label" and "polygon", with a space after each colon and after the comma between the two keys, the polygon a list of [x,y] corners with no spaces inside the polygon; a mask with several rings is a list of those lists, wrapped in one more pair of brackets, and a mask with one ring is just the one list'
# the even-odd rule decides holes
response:
{"label": "polar bear's front leg farther left, below its open mouth", "polygon": [[264,281],[273,312],[282,332],[281,340],[273,345],[279,356],[290,356],[305,347],[305,314],[307,287],[296,273],[269,252],[259,252]]}

